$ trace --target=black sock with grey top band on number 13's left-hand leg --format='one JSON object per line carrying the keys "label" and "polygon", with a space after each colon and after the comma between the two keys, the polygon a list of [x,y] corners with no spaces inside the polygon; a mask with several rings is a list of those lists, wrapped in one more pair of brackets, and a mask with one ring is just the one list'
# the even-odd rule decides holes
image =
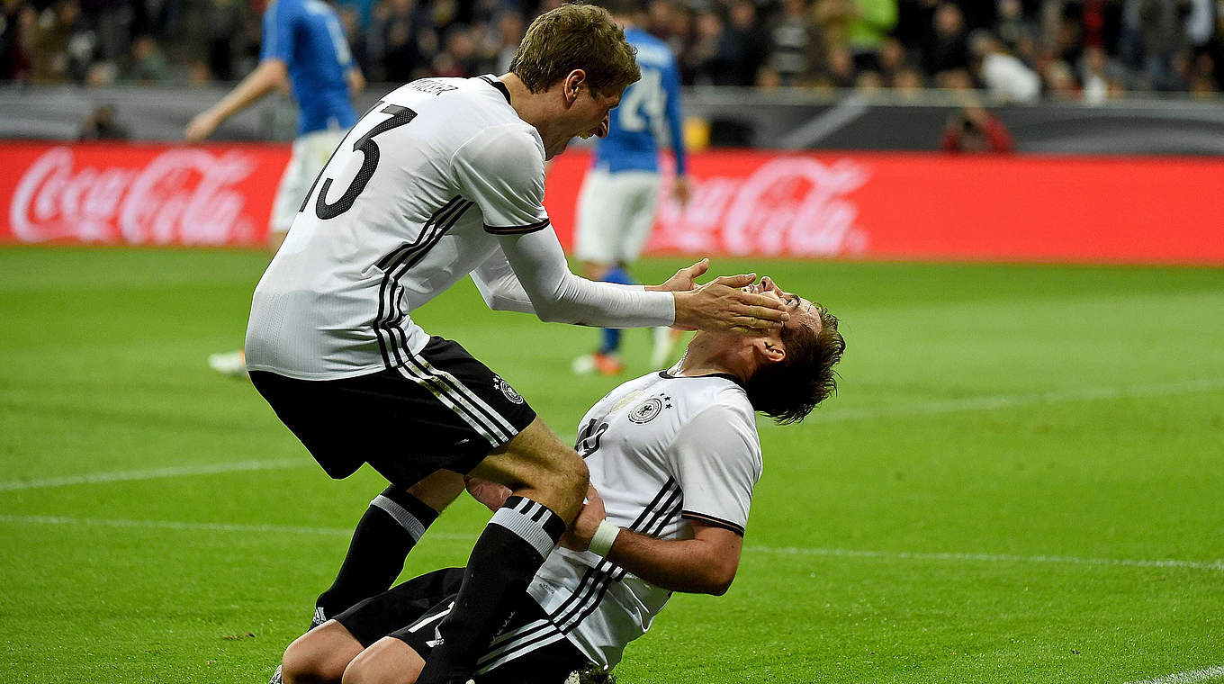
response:
{"label": "black sock with grey top band on number 13's left-hand leg", "polygon": [[436,510],[403,487],[392,485],[375,497],[353,532],[340,573],[315,602],[316,623],[390,589],[408,552],[437,518]]}

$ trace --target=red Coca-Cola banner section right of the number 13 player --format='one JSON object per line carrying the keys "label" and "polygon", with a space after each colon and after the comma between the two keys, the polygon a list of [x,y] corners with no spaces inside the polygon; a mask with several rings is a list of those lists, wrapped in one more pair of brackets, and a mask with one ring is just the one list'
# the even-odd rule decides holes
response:
{"label": "red Coca-Cola banner section right of the number 13 player", "polygon": [[[548,175],[563,241],[586,164],[567,153]],[[721,151],[689,166],[693,198],[662,203],[650,252],[1224,264],[1224,159]]]}

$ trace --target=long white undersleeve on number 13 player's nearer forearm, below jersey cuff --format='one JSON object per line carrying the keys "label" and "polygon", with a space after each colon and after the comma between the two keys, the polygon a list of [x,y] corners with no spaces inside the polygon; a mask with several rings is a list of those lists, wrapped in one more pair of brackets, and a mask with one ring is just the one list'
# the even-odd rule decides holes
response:
{"label": "long white undersleeve on number 13 player's nearer forearm, below jersey cuff", "polygon": [[647,328],[676,322],[676,297],[671,292],[595,283],[570,273],[551,225],[532,232],[498,235],[497,241],[541,321],[600,328]]}

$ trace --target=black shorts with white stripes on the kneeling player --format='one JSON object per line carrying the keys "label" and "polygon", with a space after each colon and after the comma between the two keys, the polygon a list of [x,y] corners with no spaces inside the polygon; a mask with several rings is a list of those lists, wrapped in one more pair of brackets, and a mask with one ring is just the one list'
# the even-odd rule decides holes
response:
{"label": "black shorts with white stripes on the kneeling player", "polygon": [[[365,647],[394,636],[427,658],[435,628],[450,612],[461,582],[463,568],[435,570],[357,603],[335,620]],[[551,625],[524,592],[480,658],[476,684],[562,684],[569,673],[590,667],[586,656]]]}

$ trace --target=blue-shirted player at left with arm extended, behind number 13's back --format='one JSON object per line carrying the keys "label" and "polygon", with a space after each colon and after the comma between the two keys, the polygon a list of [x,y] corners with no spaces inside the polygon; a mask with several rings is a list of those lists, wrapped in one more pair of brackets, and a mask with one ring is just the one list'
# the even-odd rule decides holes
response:
{"label": "blue-shirted player at left with arm extended, behind number 13's back", "polygon": [[[223,121],[275,89],[289,89],[297,103],[297,137],[272,204],[268,250],[277,253],[306,191],[332,151],[357,120],[351,98],[365,88],[335,10],[323,0],[275,0],[263,13],[259,66],[220,102],[187,124],[187,142],[201,142]],[[246,377],[241,350],[214,354],[208,365]]]}

